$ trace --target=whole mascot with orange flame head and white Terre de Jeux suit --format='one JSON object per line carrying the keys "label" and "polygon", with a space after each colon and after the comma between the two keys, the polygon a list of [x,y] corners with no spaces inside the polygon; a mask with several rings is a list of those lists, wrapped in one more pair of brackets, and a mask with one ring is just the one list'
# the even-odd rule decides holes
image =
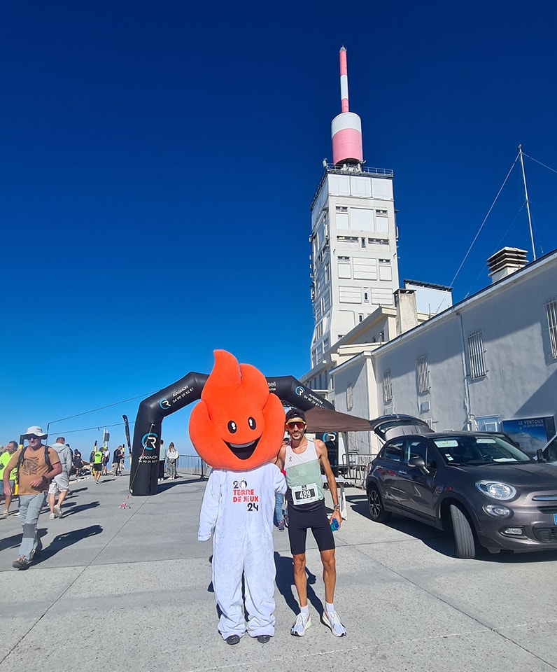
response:
{"label": "whole mascot with orange flame head and white Terre de Jeux suit", "polygon": [[197,539],[209,540],[213,533],[213,588],[221,636],[237,644],[247,630],[266,643],[275,623],[275,493],[286,490],[273,463],[283,438],[284,411],[255,367],[239,365],[223,350],[214,355],[213,371],[190,417],[192,444],[213,467]]}

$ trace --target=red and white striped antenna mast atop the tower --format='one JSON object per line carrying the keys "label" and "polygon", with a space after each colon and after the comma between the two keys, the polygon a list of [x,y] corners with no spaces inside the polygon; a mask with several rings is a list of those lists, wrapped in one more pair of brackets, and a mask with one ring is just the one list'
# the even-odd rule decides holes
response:
{"label": "red and white striped antenna mast atop the tower", "polygon": [[357,114],[348,111],[348,66],[344,47],[339,52],[339,60],[341,113],[331,123],[332,162],[335,166],[354,165],[364,160],[362,121]]}

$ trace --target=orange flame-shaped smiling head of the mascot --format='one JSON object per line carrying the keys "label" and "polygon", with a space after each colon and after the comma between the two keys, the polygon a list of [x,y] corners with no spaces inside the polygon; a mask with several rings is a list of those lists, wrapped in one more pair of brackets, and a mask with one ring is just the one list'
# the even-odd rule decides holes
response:
{"label": "orange flame-shaped smiling head of the mascot", "polygon": [[211,467],[243,471],[273,461],[284,435],[284,409],[265,376],[215,350],[215,365],[190,416],[190,439]]}

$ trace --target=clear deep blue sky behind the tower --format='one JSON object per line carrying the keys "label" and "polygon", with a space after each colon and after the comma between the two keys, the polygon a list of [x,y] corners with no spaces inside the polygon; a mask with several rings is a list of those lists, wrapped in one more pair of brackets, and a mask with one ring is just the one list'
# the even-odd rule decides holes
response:
{"label": "clear deep blue sky behind the tower", "polygon": [[[395,172],[401,279],[451,284],[519,142],[557,169],[553,1],[11,5],[1,443],[47,423],[82,449],[120,423],[122,442],[122,414],[209,373],[216,348],[269,376],[309,369],[309,204],[343,44],[367,166]],[[541,255],[557,247],[557,174],[529,158],[526,172]],[[455,302],[500,247],[530,250],[523,203],[516,166]],[[163,426],[184,453],[187,425],[183,411]]]}

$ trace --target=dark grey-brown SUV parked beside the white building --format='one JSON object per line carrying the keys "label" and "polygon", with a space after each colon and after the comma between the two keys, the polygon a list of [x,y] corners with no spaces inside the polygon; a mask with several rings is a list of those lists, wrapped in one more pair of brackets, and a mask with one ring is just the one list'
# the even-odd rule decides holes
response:
{"label": "dark grey-brown SUV parked beside the white building", "polygon": [[[385,419],[383,419],[385,420]],[[490,433],[404,433],[369,463],[369,515],[452,531],[456,555],[557,549],[557,474]]]}

